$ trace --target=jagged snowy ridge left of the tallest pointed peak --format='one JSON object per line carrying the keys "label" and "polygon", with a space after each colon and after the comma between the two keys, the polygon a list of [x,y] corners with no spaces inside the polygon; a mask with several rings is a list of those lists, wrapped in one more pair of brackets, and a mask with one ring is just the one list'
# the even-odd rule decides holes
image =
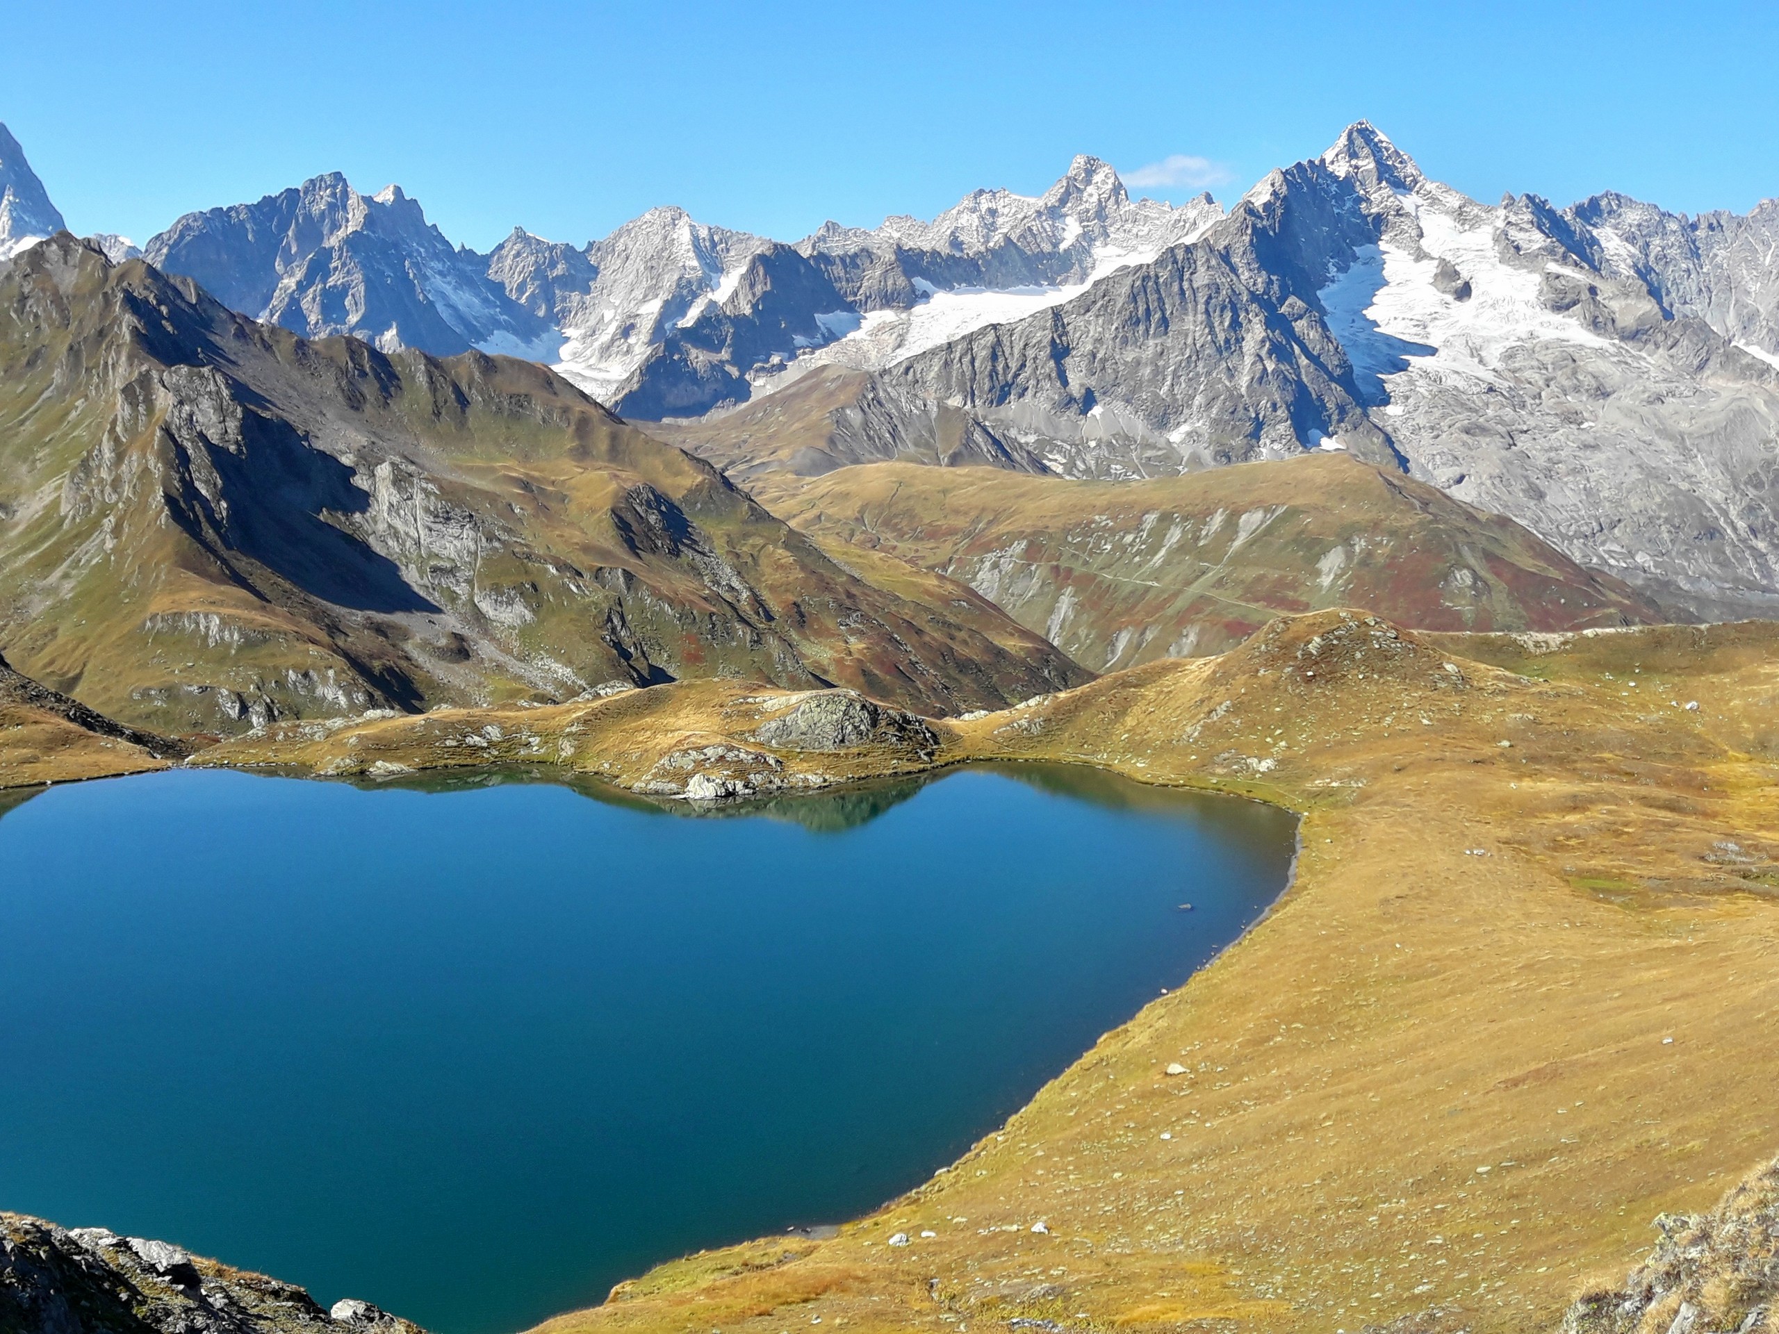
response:
{"label": "jagged snowy ridge left of the tallest pointed peak", "polygon": [[[187,213],[146,254],[306,336],[550,361],[624,416],[656,420],[745,402],[756,381],[815,365],[808,352],[836,340],[843,365],[886,365],[1009,301],[1060,301],[1220,215],[1210,196],[1133,201],[1112,167],[1078,157],[1039,197],[977,190],[932,222],[829,222],[795,245],[653,208],[584,247],[514,228],[484,256],[452,247],[398,187],[365,196],[334,173]],[[911,333],[936,293],[955,295],[938,333]],[[884,318],[849,338],[868,315]]]}

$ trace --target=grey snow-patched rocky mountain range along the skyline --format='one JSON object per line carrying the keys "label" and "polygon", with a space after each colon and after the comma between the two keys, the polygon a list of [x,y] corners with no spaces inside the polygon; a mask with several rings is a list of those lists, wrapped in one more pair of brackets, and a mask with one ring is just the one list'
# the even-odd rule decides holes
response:
{"label": "grey snow-patched rocky mountain range along the skyline", "polygon": [[[59,215],[11,137],[0,155],[18,247]],[[1080,157],[1039,197],[977,190],[930,222],[783,244],[656,208],[479,254],[334,174],[146,245],[304,336],[551,363],[737,475],[1137,478],[1345,448],[1706,617],[1779,607],[1775,253],[1779,203],[1482,205],[1363,121],[1228,212],[1131,199]],[[760,427],[781,413],[795,445]]]}

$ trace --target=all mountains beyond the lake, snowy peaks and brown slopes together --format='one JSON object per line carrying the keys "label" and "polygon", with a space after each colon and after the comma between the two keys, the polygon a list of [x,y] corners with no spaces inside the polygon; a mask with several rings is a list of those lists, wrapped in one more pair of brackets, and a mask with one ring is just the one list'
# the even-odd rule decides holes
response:
{"label": "all mountains beyond the lake, snowy peaks and brown slopes together", "polygon": [[[1080,679],[1046,640],[1103,671],[1325,605],[1347,502],[1405,553],[1364,587],[1414,624],[1779,608],[1775,203],[1482,205],[1366,123],[1228,210],[1078,157],[1042,196],[795,244],[656,208],[480,254],[327,174],[139,249],[62,233],[4,132],[0,185],[0,630],[137,726],[687,672],[955,711]],[[1414,486],[1169,484],[1327,454]],[[1007,480],[811,482],[890,461]],[[1279,505],[1302,541],[1270,555],[1210,523]],[[1114,596],[1174,526],[1179,596]]]}

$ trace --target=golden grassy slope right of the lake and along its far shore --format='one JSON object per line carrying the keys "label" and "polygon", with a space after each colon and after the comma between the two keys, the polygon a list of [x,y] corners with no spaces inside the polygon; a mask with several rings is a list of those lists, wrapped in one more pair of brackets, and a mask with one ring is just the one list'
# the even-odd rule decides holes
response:
{"label": "golden grassy slope right of the lake and along its far shore", "polygon": [[[213,758],[418,767],[461,756],[441,729],[496,720],[507,758],[623,783],[745,736],[760,708],[688,683]],[[1775,626],[1423,640],[1322,612],[939,731],[941,763],[1076,759],[1292,806],[1293,888],[909,1197],[833,1240],[665,1265],[551,1334],[1357,1330],[1436,1309],[1429,1329],[1517,1330],[1779,1140]],[[888,1247],[895,1231],[914,1242]]]}

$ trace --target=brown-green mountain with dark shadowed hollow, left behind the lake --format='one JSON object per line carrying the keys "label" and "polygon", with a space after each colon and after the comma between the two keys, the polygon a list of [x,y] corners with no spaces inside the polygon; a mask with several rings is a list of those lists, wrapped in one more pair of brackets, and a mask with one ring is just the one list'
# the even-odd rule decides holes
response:
{"label": "brown-green mountain with dark shadowed hollow, left behind the lake", "polygon": [[1083,676],[543,366],[308,342],[66,233],[0,274],[0,642],[162,733],[708,674],[945,713]]}

